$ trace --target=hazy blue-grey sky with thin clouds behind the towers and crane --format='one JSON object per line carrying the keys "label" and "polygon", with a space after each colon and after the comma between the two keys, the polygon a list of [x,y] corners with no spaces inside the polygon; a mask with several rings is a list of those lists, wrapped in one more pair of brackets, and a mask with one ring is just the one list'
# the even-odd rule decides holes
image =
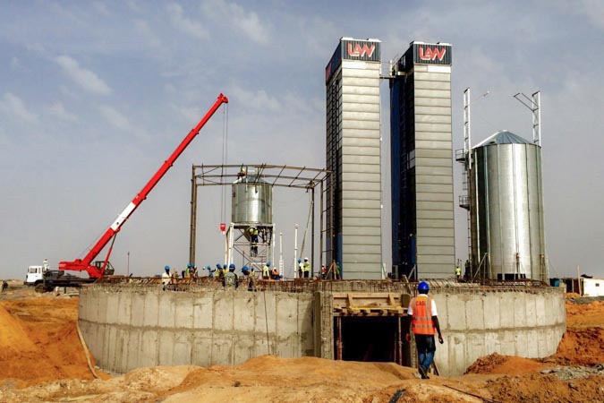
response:
{"label": "hazy blue-grey sky with thin clouds behind the towers and crane", "polygon": [[[2,3],[0,278],[24,279],[45,258],[55,268],[83,257],[222,92],[228,112],[217,112],[123,225],[111,258],[118,274],[184,268],[192,164],[325,167],[324,69],[341,37],[380,39],[384,74],[413,40],[452,44],[454,150],[463,148],[465,88],[474,144],[503,129],[532,139],[531,112],[513,96],[540,90],[550,275],[574,276],[578,265],[604,277],[599,0]],[[387,81],[381,93],[389,267]],[[218,228],[228,215],[216,189],[200,199],[197,261],[214,265],[224,260]],[[309,198],[279,191],[274,204],[288,265]],[[458,207],[455,244],[465,260]]]}

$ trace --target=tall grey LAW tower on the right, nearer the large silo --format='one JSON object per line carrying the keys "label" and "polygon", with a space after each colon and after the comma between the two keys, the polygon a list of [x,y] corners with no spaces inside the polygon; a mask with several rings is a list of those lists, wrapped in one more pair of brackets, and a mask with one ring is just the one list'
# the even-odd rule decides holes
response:
{"label": "tall grey LAW tower on the right, nearer the large silo", "polygon": [[451,46],[413,41],[390,73],[394,274],[450,277],[455,270]]}

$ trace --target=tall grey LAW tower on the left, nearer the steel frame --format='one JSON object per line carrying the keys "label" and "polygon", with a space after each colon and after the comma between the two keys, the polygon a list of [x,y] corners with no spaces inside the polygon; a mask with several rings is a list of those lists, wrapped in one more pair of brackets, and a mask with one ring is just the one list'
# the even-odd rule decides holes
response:
{"label": "tall grey LAW tower on the left, nearer the steel frame", "polygon": [[383,278],[379,45],[342,38],[325,69],[326,260],[339,263],[344,279]]}

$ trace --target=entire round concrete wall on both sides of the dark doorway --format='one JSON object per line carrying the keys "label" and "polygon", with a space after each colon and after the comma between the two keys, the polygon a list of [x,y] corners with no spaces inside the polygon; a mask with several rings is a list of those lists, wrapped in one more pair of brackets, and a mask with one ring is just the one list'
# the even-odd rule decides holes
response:
{"label": "entire round concrete wall on both sides of the dark doorway", "polygon": [[[333,282],[314,292],[306,286],[304,292],[174,292],[95,284],[81,290],[79,322],[99,366],[115,373],[149,365],[239,364],[264,354],[333,359],[331,293],[408,292],[401,283],[381,284]],[[558,287],[432,287],[430,295],[445,339],[436,353],[442,375],[462,374],[494,352],[549,356],[566,330]]]}

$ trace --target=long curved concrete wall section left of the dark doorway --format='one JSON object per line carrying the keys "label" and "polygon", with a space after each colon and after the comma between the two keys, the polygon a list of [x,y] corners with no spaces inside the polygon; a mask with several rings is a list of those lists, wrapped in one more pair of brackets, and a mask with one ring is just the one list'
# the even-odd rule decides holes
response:
{"label": "long curved concrete wall section left of the dark doorway", "polygon": [[98,365],[239,364],[251,357],[314,356],[312,294],[82,289],[80,328]]}

